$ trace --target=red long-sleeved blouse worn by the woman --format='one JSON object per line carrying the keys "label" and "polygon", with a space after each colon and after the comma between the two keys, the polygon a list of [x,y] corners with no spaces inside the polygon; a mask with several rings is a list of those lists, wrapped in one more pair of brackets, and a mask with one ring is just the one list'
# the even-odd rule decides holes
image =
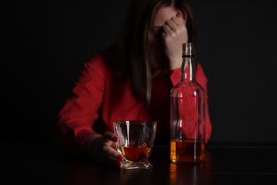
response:
{"label": "red long-sleeved blouse worn by the woman", "polygon": [[[151,106],[147,108],[133,97],[129,81],[115,80],[107,65],[112,61],[112,55],[100,53],[85,63],[72,95],[58,115],[56,139],[70,154],[81,154],[90,136],[113,132],[115,120],[155,120],[158,125],[154,145],[170,142],[170,90],[180,80],[180,68],[164,70],[153,78]],[[207,94],[207,78],[199,63],[196,79]],[[206,142],[211,131],[206,96]]]}

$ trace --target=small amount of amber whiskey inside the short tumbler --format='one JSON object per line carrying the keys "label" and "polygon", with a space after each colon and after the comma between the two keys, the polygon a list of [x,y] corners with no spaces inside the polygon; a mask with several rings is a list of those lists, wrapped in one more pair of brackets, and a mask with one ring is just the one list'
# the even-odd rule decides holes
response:
{"label": "small amount of amber whiskey inside the short tumbler", "polygon": [[132,162],[145,162],[151,153],[151,147],[120,147],[125,159]]}

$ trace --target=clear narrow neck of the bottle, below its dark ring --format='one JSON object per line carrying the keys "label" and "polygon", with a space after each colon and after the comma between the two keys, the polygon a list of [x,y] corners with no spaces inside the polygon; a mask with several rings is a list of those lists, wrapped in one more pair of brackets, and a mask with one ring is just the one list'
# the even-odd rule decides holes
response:
{"label": "clear narrow neck of the bottle, below its dark ring", "polygon": [[180,83],[195,82],[194,56],[183,56]]}

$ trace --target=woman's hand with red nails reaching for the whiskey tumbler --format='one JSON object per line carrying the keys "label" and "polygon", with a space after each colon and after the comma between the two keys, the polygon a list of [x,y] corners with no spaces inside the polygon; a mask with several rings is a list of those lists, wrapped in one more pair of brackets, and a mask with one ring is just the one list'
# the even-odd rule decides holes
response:
{"label": "woman's hand with red nails reaching for the whiskey tumbler", "polygon": [[103,136],[94,135],[87,140],[85,154],[97,162],[121,168],[123,156],[116,150],[117,140],[118,137],[112,132],[105,132]]}

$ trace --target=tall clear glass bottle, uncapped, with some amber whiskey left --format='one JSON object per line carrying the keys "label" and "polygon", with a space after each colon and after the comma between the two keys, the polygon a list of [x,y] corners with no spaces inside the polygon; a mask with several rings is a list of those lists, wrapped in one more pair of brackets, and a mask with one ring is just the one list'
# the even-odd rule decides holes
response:
{"label": "tall clear glass bottle, uncapped, with some amber whiskey left", "polygon": [[170,159],[204,162],[205,90],[195,79],[192,43],[183,43],[180,82],[170,92]]}

